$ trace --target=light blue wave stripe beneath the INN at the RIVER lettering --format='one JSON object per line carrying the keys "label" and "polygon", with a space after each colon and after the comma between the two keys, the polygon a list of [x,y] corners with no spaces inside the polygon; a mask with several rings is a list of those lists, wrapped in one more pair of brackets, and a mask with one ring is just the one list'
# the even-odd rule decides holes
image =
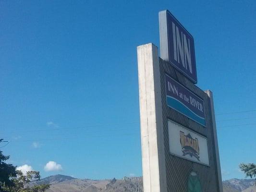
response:
{"label": "light blue wave stripe beneath the INN at the RIVER lettering", "polygon": [[190,109],[188,109],[183,103],[180,101],[174,99],[173,97],[166,97],[167,105],[170,108],[173,108],[183,115],[187,116],[188,118],[195,120],[196,122],[200,123],[203,126],[206,126],[206,121],[204,118],[200,118],[197,115],[195,115]]}

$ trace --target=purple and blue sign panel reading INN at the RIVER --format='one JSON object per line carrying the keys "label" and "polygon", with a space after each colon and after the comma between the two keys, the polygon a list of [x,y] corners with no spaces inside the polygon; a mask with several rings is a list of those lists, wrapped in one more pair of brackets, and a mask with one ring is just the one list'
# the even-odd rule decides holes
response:
{"label": "purple and blue sign panel reading INN at the RIVER", "polygon": [[166,103],[188,118],[206,127],[204,101],[165,74]]}

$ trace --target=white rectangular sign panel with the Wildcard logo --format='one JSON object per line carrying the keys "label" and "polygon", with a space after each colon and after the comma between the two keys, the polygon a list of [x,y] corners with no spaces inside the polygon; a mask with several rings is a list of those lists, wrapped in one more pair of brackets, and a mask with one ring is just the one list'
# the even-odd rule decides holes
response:
{"label": "white rectangular sign panel with the Wildcard logo", "polygon": [[209,166],[207,138],[168,120],[170,153]]}

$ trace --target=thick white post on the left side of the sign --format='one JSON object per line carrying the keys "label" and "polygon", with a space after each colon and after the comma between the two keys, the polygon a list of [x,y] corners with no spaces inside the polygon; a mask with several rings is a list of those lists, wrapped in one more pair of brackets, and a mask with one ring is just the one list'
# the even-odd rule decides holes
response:
{"label": "thick white post on the left side of the sign", "polygon": [[167,192],[158,49],[137,48],[144,192]]}

